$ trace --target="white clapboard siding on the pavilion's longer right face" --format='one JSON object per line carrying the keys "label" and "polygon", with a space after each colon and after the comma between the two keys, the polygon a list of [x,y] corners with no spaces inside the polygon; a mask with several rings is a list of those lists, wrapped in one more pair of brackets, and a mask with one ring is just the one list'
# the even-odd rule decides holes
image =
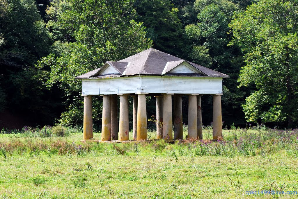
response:
{"label": "white clapboard siding on the pavilion's longer right face", "polygon": [[141,76],[144,93],[217,94],[222,93],[222,78]]}

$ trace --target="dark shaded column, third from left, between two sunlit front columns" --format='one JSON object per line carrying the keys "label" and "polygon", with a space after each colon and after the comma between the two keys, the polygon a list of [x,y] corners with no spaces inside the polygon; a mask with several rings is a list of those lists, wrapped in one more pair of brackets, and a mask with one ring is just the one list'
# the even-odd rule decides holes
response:
{"label": "dark shaded column, third from left, between two sunlit front columns", "polygon": [[118,140],[117,95],[111,95],[111,137],[112,140]]}

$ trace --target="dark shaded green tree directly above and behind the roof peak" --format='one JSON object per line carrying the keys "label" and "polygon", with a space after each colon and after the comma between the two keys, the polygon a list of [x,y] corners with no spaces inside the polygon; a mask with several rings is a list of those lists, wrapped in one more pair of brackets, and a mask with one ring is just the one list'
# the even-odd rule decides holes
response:
{"label": "dark shaded green tree directly above and behind the roof peak", "polygon": [[183,46],[182,23],[179,10],[170,0],[144,0],[136,3],[138,21],[147,27],[147,37],[153,40],[153,47],[180,56]]}

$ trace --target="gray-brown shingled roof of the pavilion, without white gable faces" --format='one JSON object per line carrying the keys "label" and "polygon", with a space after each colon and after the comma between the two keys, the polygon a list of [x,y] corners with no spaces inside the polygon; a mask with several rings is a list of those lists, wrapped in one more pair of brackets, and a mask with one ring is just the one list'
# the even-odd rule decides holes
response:
{"label": "gray-brown shingled roof of the pavilion, without white gable faces", "polygon": [[[113,66],[117,71],[119,71],[119,73],[122,76],[140,75],[140,74],[162,75],[162,72],[168,62],[169,63],[167,65],[166,72],[175,68],[177,65],[179,65],[184,61],[185,61],[184,59],[164,53],[154,48],[149,48],[138,54],[119,60],[118,62],[108,61],[105,64],[109,64]],[[193,65],[198,70],[200,70],[202,74],[206,74],[206,75],[198,74],[198,76],[211,76],[211,77],[223,77],[223,78],[229,77],[224,73],[220,73],[218,71],[206,68],[204,66],[195,64],[193,62],[188,62],[188,63],[190,65]],[[76,79],[104,78],[104,75],[100,75],[100,73],[101,73],[100,68],[98,68],[96,70],[92,70],[83,75],[77,76]],[[174,75],[174,74],[171,73],[169,75]],[[119,74],[117,76],[119,76]]]}

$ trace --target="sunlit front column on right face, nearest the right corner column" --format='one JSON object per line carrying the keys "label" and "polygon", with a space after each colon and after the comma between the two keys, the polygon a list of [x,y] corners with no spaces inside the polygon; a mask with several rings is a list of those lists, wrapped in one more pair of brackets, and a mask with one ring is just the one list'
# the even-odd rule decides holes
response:
{"label": "sunlit front column on right face, nearest the right corner column", "polygon": [[188,96],[188,129],[187,138],[198,137],[198,126],[197,126],[197,96]]}

